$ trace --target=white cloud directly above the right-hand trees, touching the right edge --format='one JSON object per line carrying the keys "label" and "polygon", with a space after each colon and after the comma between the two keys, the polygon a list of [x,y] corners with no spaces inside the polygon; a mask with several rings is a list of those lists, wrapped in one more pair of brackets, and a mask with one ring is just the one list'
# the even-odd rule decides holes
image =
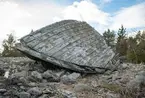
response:
{"label": "white cloud directly above the right-hand trees, touching the right edge", "polygon": [[126,28],[145,27],[145,3],[134,5],[128,8],[122,8],[112,17],[110,28],[117,29],[124,25]]}

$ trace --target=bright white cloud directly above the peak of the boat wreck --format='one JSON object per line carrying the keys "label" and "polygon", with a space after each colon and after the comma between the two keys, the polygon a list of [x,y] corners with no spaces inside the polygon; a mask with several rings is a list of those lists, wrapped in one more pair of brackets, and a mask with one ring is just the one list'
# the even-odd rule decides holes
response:
{"label": "bright white cloud directly above the peak of the boat wreck", "polygon": [[89,24],[95,25],[102,31],[105,26],[109,25],[110,14],[101,11],[99,7],[92,3],[90,0],[83,0],[74,2],[72,5],[67,6],[60,16],[55,17],[56,20],[62,19],[76,19],[86,21]]}

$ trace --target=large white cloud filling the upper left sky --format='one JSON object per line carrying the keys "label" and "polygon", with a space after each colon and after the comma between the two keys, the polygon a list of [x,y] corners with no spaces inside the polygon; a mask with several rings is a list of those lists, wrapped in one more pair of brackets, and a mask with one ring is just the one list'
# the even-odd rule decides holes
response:
{"label": "large white cloud filling the upper left sky", "polygon": [[0,2],[0,43],[6,34],[15,31],[17,37],[28,34],[31,29],[39,29],[53,22],[53,17],[63,10],[63,6],[54,3]]}

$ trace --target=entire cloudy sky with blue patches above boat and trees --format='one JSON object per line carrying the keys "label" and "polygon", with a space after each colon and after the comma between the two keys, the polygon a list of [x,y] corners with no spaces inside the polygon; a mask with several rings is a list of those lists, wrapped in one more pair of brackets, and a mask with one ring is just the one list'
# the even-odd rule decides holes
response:
{"label": "entire cloudy sky with blue patches above boat and trees", "polygon": [[129,34],[145,30],[145,0],[0,0],[0,44],[7,34],[16,38],[51,23],[86,21],[99,33],[123,25]]}

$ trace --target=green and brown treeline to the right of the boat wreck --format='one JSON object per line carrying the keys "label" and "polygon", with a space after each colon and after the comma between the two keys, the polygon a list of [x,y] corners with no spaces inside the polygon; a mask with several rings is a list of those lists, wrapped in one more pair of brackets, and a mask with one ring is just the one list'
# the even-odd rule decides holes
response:
{"label": "green and brown treeline to the right of the boat wreck", "polygon": [[108,29],[103,37],[107,45],[128,62],[145,62],[145,31],[138,31],[135,36],[127,37],[126,28],[122,25],[117,33]]}

